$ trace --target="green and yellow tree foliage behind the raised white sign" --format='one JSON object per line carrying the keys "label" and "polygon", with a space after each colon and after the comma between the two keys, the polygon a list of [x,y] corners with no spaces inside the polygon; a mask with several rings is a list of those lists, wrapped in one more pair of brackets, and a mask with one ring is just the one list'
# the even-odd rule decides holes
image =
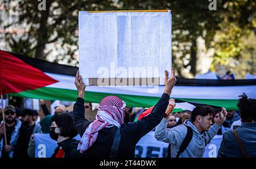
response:
{"label": "green and yellow tree foliage behind the raised white sign", "polygon": [[[200,69],[197,67],[198,37],[203,37],[207,49],[215,50],[212,67],[228,65],[229,58],[238,61],[241,52],[246,53],[242,39],[251,35],[256,26],[254,1],[216,0],[216,11],[209,10],[209,3],[205,0],[46,0],[46,10],[39,11],[38,1],[23,0],[14,7],[19,12],[18,23],[10,26],[24,24],[28,31],[22,37],[9,33],[6,37],[13,52],[46,59],[53,56],[49,44],[55,44],[57,56],[53,61],[77,64],[79,11],[170,9],[173,63],[177,73],[186,77],[183,70],[195,75]],[[251,48],[254,50],[255,46]]]}

